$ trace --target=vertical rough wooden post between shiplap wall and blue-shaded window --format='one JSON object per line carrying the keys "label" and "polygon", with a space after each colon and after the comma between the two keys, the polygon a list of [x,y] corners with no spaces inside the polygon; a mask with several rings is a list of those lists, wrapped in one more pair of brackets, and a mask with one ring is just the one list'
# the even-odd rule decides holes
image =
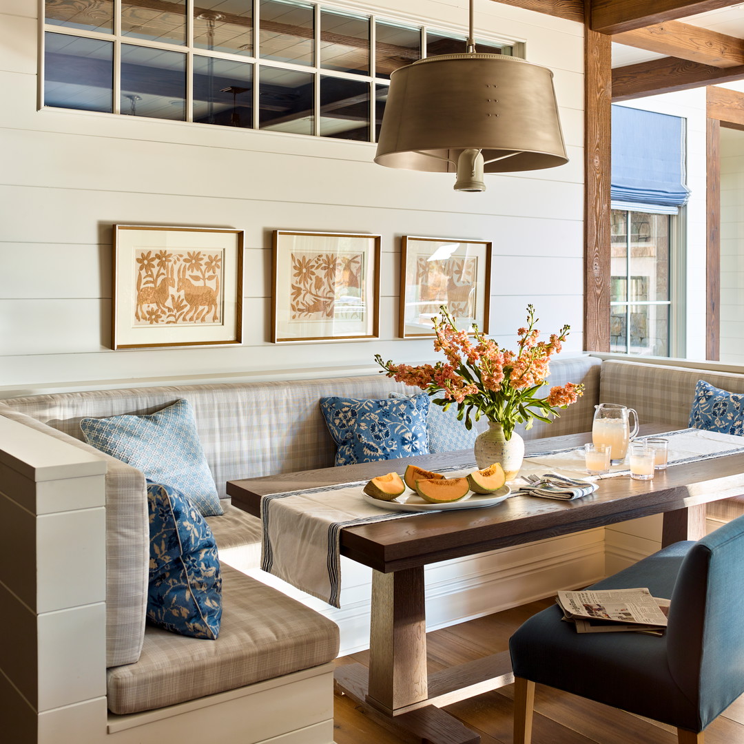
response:
{"label": "vertical rough wooden post between shiplap wall and blue-shaded window", "polygon": [[584,349],[609,351],[610,37],[586,29],[584,92]]}

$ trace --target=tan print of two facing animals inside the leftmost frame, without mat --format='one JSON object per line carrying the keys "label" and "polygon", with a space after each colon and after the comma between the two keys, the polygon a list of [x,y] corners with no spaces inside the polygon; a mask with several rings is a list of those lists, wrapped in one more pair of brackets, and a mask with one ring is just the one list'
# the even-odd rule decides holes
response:
{"label": "tan print of two facing animals inside the leftmost frame, without mat", "polygon": [[132,325],[221,325],[222,252],[137,248]]}

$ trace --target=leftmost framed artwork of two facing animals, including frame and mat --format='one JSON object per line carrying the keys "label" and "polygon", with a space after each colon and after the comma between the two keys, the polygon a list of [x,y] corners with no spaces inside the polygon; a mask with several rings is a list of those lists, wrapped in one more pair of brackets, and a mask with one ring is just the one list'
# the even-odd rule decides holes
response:
{"label": "leftmost framed artwork of two facing animals, including frame and mat", "polygon": [[243,231],[114,225],[112,347],[240,344]]}

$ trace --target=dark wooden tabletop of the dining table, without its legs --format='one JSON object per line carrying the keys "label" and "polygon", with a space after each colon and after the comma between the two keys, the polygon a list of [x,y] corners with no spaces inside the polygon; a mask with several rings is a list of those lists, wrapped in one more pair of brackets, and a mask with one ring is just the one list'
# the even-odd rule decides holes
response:
{"label": "dark wooden tabletop of the dining table, without its legs", "polygon": [[[669,427],[647,424],[641,427],[641,435],[665,429]],[[528,441],[526,449],[530,454],[579,447],[590,440],[588,432],[548,437]],[[420,455],[231,481],[227,491],[235,506],[260,516],[261,497],[269,493],[365,481],[392,471],[403,475],[408,464],[437,470],[467,466],[472,459],[472,451]],[[650,514],[686,512],[689,507],[741,493],[744,454],[729,455],[656,471],[651,481],[635,481],[628,475],[605,478],[597,491],[576,501],[516,496],[494,507],[425,513],[412,519],[344,527],[340,550],[341,555],[388,573]],[[665,544],[688,536],[684,525],[676,530],[672,520],[665,520],[665,532]]]}

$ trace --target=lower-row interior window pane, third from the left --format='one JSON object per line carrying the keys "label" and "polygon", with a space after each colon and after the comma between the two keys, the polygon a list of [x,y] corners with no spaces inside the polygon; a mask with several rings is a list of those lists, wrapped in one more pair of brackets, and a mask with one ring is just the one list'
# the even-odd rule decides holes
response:
{"label": "lower-row interior window pane, third from the left", "polygon": [[253,126],[253,65],[194,54],[193,121]]}

